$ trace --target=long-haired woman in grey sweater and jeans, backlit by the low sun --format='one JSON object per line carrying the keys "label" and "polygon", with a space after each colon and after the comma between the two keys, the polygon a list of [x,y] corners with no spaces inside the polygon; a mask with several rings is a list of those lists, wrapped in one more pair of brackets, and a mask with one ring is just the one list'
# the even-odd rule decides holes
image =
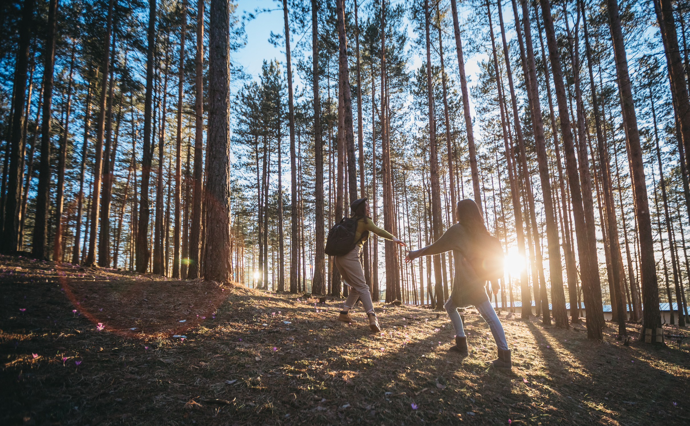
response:
{"label": "long-haired woman in grey sweater and jeans, backlit by the low sun", "polygon": [[[482,251],[482,244],[485,244],[488,238],[493,239],[484,226],[482,213],[477,204],[473,200],[461,200],[457,202],[457,224],[447,229],[441,238],[430,246],[408,251],[405,261],[411,262],[421,256],[453,251],[455,260],[453,292],[444,304],[455,329],[455,346],[451,347],[451,350],[460,352],[464,356],[468,355],[467,338],[457,308],[473,305],[482,314],[482,318],[489,323],[493,340],[498,347],[498,359],[491,361],[491,364],[498,369],[510,369],[511,351],[508,349],[503,326],[491,306],[489,297],[486,296],[484,289],[486,280],[479,278],[471,263],[471,260],[476,258],[476,254]],[[493,293],[498,293],[498,290],[497,286],[492,288]]]}

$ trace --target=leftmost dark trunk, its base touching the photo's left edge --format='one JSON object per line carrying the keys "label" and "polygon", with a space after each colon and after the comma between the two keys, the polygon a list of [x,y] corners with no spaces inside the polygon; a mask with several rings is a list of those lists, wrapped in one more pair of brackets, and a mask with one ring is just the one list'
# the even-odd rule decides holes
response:
{"label": "leftmost dark trunk, its base touching the photo's left edge", "polygon": [[4,199],[4,226],[0,249],[3,251],[17,250],[19,243],[19,208],[21,197],[21,176],[23,167],[23,128],[26,122],[24,104],[26,102],[26,75],[29,65],[29,49],[31,46],[31,30],[34,21],[35,0],[26,0],[21,6],[21,24],[19,25],[19,46],[14,65],[14,82],[12,91],[12,128],[8,139],[7,155],[10,158],[10,171],[7,183],[7,193]]}

